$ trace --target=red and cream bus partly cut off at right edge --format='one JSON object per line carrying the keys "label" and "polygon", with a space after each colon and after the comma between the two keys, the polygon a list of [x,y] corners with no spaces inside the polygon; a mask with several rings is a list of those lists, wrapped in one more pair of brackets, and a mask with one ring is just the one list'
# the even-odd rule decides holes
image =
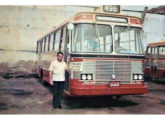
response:
{"label": "red and cream bus partly cut off at right edge", "polygon": [[146,49],[146,80],[165,81],[165,40],[149,43]]}

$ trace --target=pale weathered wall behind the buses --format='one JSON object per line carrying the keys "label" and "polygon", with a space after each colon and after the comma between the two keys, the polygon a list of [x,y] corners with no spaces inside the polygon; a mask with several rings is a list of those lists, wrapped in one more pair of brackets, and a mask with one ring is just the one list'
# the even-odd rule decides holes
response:
{"label": "pale weathered wall behind the buses", "polygon": [[[126,8],[125,8],[126,9]],[[0,6],[0,63],[35,60],[36,41],[62,21],[82,11],[93,8],[81,6]],[[141,16],[141,13],[124,12]],[[165,38],[165,16],[147,14],[144,21],[144,45]]]}

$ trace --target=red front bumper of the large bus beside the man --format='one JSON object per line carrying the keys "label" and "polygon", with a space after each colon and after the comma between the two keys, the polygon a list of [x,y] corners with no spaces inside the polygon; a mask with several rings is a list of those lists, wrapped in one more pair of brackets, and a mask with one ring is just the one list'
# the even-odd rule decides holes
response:
{"label": "red front bumper of the large bus beside the man", "polygon": [[148,92],[147,86],[123,86],[123,87],[109,87],[109,86],[89,86],[89,87],[71,87],[70,96],[98,96],[98,95],[134,95],[145,94]]}

